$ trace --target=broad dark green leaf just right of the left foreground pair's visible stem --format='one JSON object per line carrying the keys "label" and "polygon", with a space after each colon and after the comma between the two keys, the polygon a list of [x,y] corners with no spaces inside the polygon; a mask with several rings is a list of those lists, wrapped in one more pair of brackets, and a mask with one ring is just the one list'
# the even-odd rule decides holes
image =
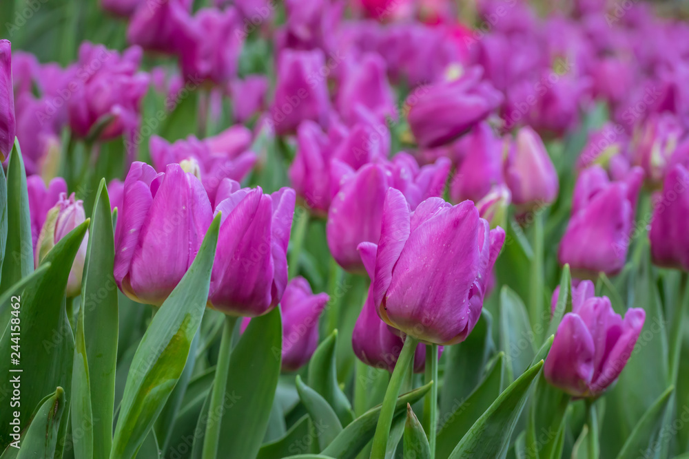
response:
{"label": "broad dark green leaf just right of the left foreground pair's visible stem", "polygon": [[232,350],[218,451],[253,458],[273,405],[282,359],[280,308],[254,317]]}

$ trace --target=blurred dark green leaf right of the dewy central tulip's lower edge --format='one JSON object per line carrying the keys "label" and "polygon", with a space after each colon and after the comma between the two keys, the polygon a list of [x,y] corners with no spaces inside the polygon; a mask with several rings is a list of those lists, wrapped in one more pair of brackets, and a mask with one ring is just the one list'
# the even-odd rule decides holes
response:
{"label": "blurred dark green leaf right of the dewy central tulip's lower edge", "polygon": [[493,318],[490,312],[484,309],[466,341],[445,348],[443,378],[444,381],[453,381],[453,383],[442,385],[439,412],[441,419],[451,414],[457,407],[457,403],[466,400],[484,376],[486,363],[495,349],[491,328],[493,328]]}

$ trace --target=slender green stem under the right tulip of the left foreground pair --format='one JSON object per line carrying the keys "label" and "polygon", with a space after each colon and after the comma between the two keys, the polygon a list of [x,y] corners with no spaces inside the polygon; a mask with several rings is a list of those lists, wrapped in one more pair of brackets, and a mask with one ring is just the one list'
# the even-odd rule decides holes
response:
{"label": "slender green stem under the right tulip of the left foreground pair", "polygon": [[220,440],[220,421],[223,418],[223,403],[225,403],[225,387],[227,386],[227,373],[229,372],[229,359],[232,354],[232,334],[237,323],[237,317],[225,316],[223,337],[220,338],[220,354],[218,365],[213,380],[211,400],[208,405],[208,421],[206,434],[203,439],[203,459],[216,459],[218,441]]}

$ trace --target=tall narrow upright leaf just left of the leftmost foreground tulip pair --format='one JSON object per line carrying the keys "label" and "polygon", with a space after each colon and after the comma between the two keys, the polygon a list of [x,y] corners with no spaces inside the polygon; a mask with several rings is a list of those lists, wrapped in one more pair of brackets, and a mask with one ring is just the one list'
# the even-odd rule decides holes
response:
{"label": "tall narrow upright leaf just left of the leftmost foreground tulip pair", "polygon": [[[89,227],[79,310],[82,328],[81,337],[77,338],[83,341],[82,344],[77,343],[77,348],[83,345],[85,351],[83,357],[86,361],[82,363],[85,374],[80,374],[88,381],[82,381],[81,384],[84,384],[85,390],[90,390],[92,419],[79,420],[76,413],[72,416],[74,431],[91,430],[88,437],[92,437],[92,454],[96,458],[107,458],[112,447],[119,319],[118,289],[113,276],[114,254],[110,199],[105,180],[101,180]],[[72,381],[76,381],[76,374]],[[78,394],[75,392],[76,396]]]}

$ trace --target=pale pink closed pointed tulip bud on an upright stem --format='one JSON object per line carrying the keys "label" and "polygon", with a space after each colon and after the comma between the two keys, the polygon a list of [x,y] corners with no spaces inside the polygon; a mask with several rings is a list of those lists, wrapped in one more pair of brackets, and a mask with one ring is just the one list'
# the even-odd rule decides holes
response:
{"label": "pale pink closed pointed tulip bud on an upright stem", "polygon": [[543,140],[531,127],[522,127],[505,164],[512,202],[522,210],[550,204],[557,198],[557,172]]}

